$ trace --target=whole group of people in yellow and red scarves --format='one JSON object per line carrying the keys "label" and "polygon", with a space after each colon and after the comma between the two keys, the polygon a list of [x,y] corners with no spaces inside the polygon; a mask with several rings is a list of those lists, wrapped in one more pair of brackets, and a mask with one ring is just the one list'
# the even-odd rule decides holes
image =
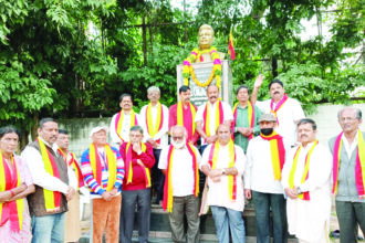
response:
{"label": "whole group of people in yellow and red scarves", "polygon": [[338,112],[343,131],[328,147],[319,144],[315,122],[281,81],[269,84],[271,99],[257,102],[262,81],[260,75],[251,99],[248,86],[239,86],[233,108],[216,85],[207,87],[208,101],[199,107],[190,103],[189,86],[181,86],[169,109],[159,102],[159,88],[149,87],[150,103],[139,114],[132,95],[123,94],[111,126],[91,130],[80,163],[67,149],[67,131],[52,118],[40,120],[36,140],[20,157],[18,130],[1,128],[0,241],[76,242],[79,192],[87,188],[93,242],[103,234],[105,242],[132,242],[135,214],[138,241],[147,242],[154,193],[168,212],[174,242],[199,242],[199,216],[208,207],[219,242],[244,242],[242,212],[252,199],[257,242],[270,242],[272,215],[274,242],[286,242],[290,233],[300,242],[324,243],[331,190],[341,242],[357,242],[357,226],[365,232],[362,112]]}

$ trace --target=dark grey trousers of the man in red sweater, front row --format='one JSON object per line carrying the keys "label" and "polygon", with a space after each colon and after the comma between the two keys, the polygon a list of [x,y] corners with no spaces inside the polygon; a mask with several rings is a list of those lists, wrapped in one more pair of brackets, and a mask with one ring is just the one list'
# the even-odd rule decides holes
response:
{"label": "dark grey trousers of the man in red sweater, front row", "polygon": [[136,204],[138,211],[138,242],[147,243],[150,220],[150,188],[122,191],[121,243],[132,242]]}

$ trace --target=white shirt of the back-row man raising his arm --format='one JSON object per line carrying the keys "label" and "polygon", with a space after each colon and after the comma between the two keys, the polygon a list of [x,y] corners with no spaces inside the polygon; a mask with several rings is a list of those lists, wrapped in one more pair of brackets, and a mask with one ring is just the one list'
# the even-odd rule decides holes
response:
{"label": "white shirt of the back-row man raising his arm", "polygon": [[[271,113],[271,99],[264,102],[257,102],[255,105],[263,113]],[[273,104],[273,109],[277,104]],[[288,98],[284,105],[277,112],[278,127],[277,133],[283,136],[290,145],[296,142],[296,120],[305,117],[301,104],[294,98]]]}

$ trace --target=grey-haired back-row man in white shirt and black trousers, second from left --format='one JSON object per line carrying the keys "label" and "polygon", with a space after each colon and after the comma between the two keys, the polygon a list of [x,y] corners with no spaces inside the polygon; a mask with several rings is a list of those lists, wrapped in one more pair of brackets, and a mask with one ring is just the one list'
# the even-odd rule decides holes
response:
{"label": "grey-haired back-row man in white shirt and black trousers, second from left", "polygon": [[[159,160],[161,149],[168,145],[168,109],[159,103],[160,91],[156,86],[147,89],[149,104],[140,109],[140,124],[145,130],[144,139],[154,148],[155,160]],[[156,192],[156,203],[163,200],[164,178],[157,168],[157,162],[152,168],[153,190]]]}

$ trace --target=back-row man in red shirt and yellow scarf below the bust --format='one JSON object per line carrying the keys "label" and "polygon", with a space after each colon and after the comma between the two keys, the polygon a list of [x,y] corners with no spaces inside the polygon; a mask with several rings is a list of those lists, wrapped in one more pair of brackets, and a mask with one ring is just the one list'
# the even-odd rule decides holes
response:
{"label": "back-row man in red shirt and yellow scarf below the bust", "polygon": [[197,107],[190,103],[190,87],[182,85],[179,88],[180,101],[169,108],[168,129],[171,129],[175,125],[184,126],[188,133],[187,140],[196,145],[199,139],[195,124]]}

